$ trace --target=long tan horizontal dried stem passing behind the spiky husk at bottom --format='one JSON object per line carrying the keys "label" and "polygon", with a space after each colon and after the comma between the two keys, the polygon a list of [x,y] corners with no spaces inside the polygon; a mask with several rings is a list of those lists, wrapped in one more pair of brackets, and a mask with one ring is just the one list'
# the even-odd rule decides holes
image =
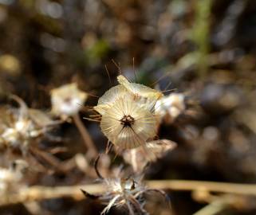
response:
{"label": "long tan horizontal dried stem passing behind the spiky husk at bottom", "polygon": [[[225,182],[199,182],[199,181],[183,181],[183,180],[163,180],[163,181],[148,181],[147,186],[151,189],[169,189],[169,190],[207,190],[209,192],[226,193],[226,194],[241,194],[256,196],[256,185],[252,184],[236,184]],[[28,201],[41,201],[44,199],[57,197],[73,197],[81,200],[84,198],[81,190],[86,190],[90,194],[103,193],[106,187],[102,184],[81,185],[81,186],[31,186],[19,190],[17,194],[8,194],[0,198],[1,205],[10,205],[17,203],[26,203]]]}

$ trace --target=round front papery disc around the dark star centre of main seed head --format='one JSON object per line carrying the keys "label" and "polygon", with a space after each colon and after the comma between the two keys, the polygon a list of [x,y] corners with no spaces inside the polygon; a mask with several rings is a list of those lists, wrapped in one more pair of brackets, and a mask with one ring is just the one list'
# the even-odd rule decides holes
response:
{"label": "round front papery disc around the dark star centre of main seed head", "polygon": [[[120,119],[124,115],[130,115],[135,120],[131,127],[121,124]],[[116,100],[104,112],[100,127],[117,147],[134,148],[156,135],[156,117],[146,106],[137,104],[133,96],[127,95]]]}

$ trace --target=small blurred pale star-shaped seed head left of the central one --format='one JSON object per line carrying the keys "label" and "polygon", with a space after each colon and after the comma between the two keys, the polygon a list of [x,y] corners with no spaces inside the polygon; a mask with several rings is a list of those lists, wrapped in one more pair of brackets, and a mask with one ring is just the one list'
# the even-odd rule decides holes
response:
{"label": "small blurred pale star-shaped seed head left of the central one", "polygon": [[55,115],[68,117],[77,114],[87,99],[87,94],[77,84],[65,84],[51,91],[52,111]]}

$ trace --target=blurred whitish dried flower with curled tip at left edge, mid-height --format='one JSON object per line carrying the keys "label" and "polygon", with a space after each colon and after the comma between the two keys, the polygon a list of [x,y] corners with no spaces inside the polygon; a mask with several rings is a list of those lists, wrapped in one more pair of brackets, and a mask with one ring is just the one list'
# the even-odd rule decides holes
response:
{"label": "blurred whitish dried flower with curled tip at left edge, mid-height", "polygon": [[29,109],[18,96],[11,98],[18,102],[20,108],[2,108],[1,113],[4,117],[1,119],[0,146],[18,147],[26,153],[31,139],[44,134],[57,123],[42,111]]}

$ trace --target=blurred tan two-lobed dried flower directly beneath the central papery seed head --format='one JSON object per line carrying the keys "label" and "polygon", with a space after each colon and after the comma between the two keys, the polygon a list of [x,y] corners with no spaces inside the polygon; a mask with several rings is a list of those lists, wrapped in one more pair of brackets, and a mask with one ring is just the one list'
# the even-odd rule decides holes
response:
{"label": "blurred tan two-lobed dried flower directly beneath the central papery seed head", "polygon": [[141,173],[148,162],[155,162],[157,158],[163,157],[167,152],[175,149],[177,144],[169,139],[159,139],[147,142],[145,147],[148,151],[153,153],[145,156],[144,149],[137,147],[135,149],[126,150],[123,153],[124,161],[132,166],[132,169],[136,173]]}

